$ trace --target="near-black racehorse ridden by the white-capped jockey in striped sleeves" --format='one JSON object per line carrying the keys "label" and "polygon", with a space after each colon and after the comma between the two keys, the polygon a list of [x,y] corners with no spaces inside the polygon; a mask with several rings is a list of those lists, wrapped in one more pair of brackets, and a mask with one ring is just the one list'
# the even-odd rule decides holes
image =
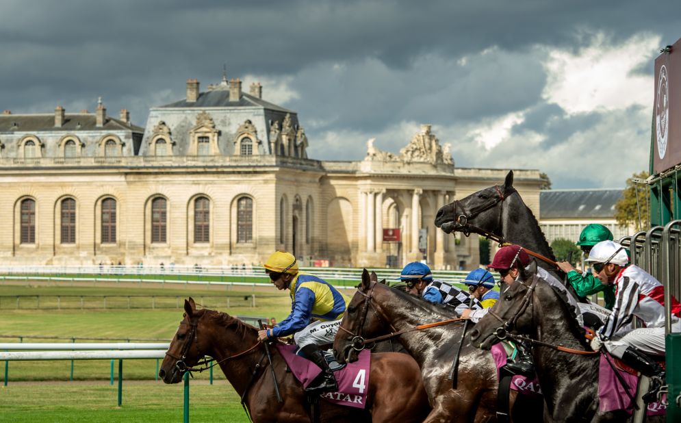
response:
{"label": "near-black racehorse ridden by the white-capped jockey in striped sleeves", "polygon": [[[522,281],[503,290],[496,305],[475,325],[470,332],[472,344],[489,349],[500,338],[513,338],[517,333],[537,341],[532,342],[532,350],[547,406],[544,421],[626,421],[626,412],[598,411],[600,357],[589,348],[565,294],[537,277],[535,264],[529,269]],[[662,422],[663,418],[647,421]]]}

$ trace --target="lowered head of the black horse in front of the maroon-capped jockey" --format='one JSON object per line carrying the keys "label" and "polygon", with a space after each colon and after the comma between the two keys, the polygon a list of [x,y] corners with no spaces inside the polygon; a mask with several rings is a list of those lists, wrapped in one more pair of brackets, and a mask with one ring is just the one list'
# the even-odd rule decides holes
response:
{"label": "lowered head of the black horse in front of the maroon-capped jockey", "polygon": [[537,262],[521,272],[511,285],[503,285],[499,300],[470,333],[471,344],[489,350],[509,333],[529,333],[532,327],[534,295],[539,282]]}

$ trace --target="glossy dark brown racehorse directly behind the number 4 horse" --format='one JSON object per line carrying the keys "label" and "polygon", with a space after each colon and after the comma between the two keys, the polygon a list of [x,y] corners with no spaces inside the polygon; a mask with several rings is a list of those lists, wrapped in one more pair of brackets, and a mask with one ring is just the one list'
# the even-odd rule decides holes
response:
{"label": "glossy dark brown racehorse directly behind the number 4 horse", "polygon": [[[417,324],[449,320],[455,316],[448,307],[427,303],[407,292],[378,283],[376,274],[370,276],[364,270],[362,283],[348,305],[333,343],[334,354],[338,361],[354,361],[367,337],[383,335],[391,330],[407,331]],[[487,422],[496,418],[498,377],[489,352],[465,342],[461,346],[454,389],[448,379],[458,353],[457,346],[463,339],[463,326],[463,322],[453,322],[399,335],[399,341],[421,368],[428,400],[433,406],[424,422]],[[515,392],[511,396],[511,407],[514,401]],[[541,410],[541,402],[525,408]]]}

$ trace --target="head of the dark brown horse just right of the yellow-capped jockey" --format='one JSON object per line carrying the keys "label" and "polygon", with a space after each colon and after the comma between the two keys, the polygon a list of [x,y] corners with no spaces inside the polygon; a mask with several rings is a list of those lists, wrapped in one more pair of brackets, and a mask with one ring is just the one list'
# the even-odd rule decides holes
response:
{"label": "head of the dark brown horse just right of the yellow-capped jockey", "polygon": [[[389,289],[385,281],[378,282],[376,273],[364,269],[362,282],[350,300],[338,333],[333,342],[333,352],[340,363],[357,360],[365,348],[365,339],[386,333],[390,325],[381,316],[381,290]],[[376,290],[378,287],[378,290]]]}

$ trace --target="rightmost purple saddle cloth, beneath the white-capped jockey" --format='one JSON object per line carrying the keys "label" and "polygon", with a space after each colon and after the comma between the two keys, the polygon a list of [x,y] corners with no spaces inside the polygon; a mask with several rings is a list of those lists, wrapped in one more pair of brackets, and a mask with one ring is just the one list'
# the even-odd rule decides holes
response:
{"label": "rightmost purple saddle cloth, beneath the white-capped jockey", "polygon": [[[608,364],[606,356],[601,354],[600,366],[598,368],[598,409],[602,412],[626,410],[629,413],[632,413],[634,411],[634,406],[632,405],[632,400],[626,394],[626,391],[628,391],[632,397],[636,395],[636,387],[639,384],[639,378],[624,370],[617,369],[617,371],[626,382],[628,389],[622,386],[619,379],[617,379],[617,375],[613,372],[613,368]],[[663,395],[662,401],[648,404],[646,414],[663,415],[667,413],[667,407],[664,405],[666,399],[666,395]]]}

